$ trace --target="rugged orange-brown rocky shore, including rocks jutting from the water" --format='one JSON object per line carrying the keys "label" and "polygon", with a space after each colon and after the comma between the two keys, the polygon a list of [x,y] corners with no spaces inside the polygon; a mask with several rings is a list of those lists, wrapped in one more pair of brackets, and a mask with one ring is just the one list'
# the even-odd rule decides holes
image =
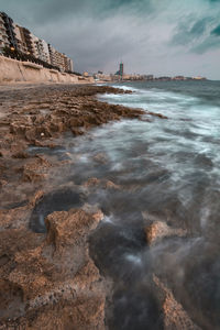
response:
{"label": "rugged orange-brown rocky shore, including rocks jutting from the water", "polygon": [[[106,92],[130,91],[107,86],[0,87],[0,329],[107,327],[112,283],[101,276],[88,249],[89,235],[105,215],[87,204],[86,194],[96,187],[122,187],[95,177],[82,185],[53,179],[68,173],[72,164],[67,152],[58,157],[61,136],[81,135],[122,118],[164,117],[99,101],[97,94]],[[97,154],[95,162],[105,164],[105,155]],[[147,215],[143,219],[146,246],[186,234],[160,221],[147,222]],[[151,280],[164,329],[198,329],[163,282],[156,275]]]}

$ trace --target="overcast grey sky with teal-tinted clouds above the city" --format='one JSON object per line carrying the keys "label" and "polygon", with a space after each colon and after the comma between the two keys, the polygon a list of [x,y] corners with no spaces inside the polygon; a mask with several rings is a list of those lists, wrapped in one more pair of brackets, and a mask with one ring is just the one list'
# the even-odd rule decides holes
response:
{"label": "overcast grey sky with teal-tinted clouds above the city", "polygon": [[0,0],[75,70],[220,80],[220,0]]}

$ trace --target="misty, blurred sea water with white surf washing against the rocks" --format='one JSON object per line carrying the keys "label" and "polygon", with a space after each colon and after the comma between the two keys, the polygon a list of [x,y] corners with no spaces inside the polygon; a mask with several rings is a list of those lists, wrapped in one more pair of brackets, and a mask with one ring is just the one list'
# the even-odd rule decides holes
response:
{"label": "misty, blurred sea water with white surf washing against the rocks", "polygon": [[[195,324],[220,329],[220,81],[114,86],[133,92],[99,99],[142,108],[143,120],[108,123],[64,145],[74,162],[67,183],[96,177],[121,187],[86,196],[105,213],[90,253],[113,280],[109,329],[164,329],[154,276]],[[148,246],[145,228],[155,221],[183,235]]]}

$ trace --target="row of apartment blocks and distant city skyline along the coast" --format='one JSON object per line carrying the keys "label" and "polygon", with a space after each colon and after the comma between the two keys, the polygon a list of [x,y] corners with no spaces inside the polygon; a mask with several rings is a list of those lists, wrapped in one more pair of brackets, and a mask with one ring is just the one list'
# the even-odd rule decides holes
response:
{"label": "row of apartment blocks and distant city skyline along the coast", "polygon": [[[37,63],[61,73],[74,73],[74,62],[66,54],[58,52],[45,40],[34,35],[29,29],[19,25],[4,12],[0,12],[0,54],[20,61]],[[75,73],[85,78],[92,77],[96,82],[135,81],[135,80],[206,80],[206,77],[162,76],[127,74],[124,64],[119,64],[114,74],[84,72]]]}

